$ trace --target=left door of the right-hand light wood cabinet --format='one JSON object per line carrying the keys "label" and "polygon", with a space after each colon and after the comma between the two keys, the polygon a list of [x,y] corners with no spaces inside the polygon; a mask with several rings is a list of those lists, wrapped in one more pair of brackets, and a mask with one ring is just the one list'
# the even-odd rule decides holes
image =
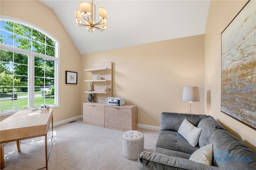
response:
{"label": "left door of the right-hand light wood cabinet", "polygon": [[117,109],[105,107],[105,127],[117,128]]}

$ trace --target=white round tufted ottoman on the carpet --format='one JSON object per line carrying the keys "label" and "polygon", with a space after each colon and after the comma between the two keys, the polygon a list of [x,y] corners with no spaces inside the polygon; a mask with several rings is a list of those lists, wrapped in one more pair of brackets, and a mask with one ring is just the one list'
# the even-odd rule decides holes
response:
{"label": "white round tufted ottoman on the carpet", "polygon": [[130,160],[138,159],[144,150],[144,134],[137,130],[130,130],[123,134],[123,155]]}

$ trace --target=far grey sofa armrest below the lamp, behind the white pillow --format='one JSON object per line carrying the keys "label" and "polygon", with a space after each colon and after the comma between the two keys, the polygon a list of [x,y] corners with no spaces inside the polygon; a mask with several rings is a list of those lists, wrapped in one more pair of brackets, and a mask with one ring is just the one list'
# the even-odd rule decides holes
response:
{"label": "far grey sofa armrest below the lamp, behind the white pillow", "polygon": [[206,115],[163,112],[161,113],[160,118],[160,130],[172,130],[178,132],[184,119],[187,119],[190,123],[197,127],[200,120],[204,117],[206,117]]}

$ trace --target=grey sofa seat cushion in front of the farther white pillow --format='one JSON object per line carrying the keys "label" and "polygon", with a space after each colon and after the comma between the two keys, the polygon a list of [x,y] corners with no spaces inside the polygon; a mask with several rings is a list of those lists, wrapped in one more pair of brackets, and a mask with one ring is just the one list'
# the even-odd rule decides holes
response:
{"label": "grey sofa seat cushion in front of the farther white pillow", "polygon": [[160,131],[156,147],[176,150],[187,154],[192,154],[199,149],[199,146],[191,146],[178,132],[170,130]]}

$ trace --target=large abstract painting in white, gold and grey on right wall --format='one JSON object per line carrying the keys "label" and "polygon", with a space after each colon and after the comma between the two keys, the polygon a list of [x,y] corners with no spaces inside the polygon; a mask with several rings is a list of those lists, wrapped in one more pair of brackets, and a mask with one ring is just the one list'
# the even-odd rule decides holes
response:
{"label": "large abstract painting in white, gold and grey on right wall", "polygon": [[221,33],[221,112],[256,130],[256,1]]}

